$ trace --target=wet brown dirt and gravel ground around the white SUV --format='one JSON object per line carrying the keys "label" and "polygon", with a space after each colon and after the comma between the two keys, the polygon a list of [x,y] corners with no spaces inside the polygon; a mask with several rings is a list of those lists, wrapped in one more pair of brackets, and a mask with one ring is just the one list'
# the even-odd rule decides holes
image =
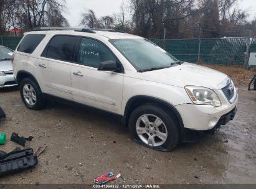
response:
{"label": "wet brown dirt and gravel ground around the white SUV", "polygon": [[7,114],[0,124],[7,134],[1,150],[18,146],[9,140],[12,132],[34,136],[26,147],[47,145],[36,167],[0,178],[1,184],[92,184],[108,171],[123,175],[111,183],[256,183],[256,91],[239,88],[234,121],[173,152],[136,144],[110,114],[58,103],[31,111],[16,88],[0,91],[0,106]]}

